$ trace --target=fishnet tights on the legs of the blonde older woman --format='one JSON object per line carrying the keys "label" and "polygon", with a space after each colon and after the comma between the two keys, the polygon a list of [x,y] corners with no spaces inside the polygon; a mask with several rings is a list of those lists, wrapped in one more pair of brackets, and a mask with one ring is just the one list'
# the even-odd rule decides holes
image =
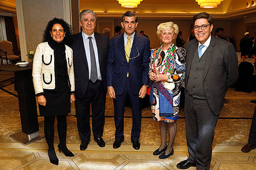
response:
{"label": "fishnet tights on the legs of the blonde older woman", "polygon": [[160,150],[166,147],[167,130],[169,131],[169,143],[165,151],[166,154],[169,154],[173,150],[172,145],[177,132],[177,121],[167,123],[161,120],[159,121],[159,127],[160,127],[160,136],[161,136],[161,145],[159,147]]}

